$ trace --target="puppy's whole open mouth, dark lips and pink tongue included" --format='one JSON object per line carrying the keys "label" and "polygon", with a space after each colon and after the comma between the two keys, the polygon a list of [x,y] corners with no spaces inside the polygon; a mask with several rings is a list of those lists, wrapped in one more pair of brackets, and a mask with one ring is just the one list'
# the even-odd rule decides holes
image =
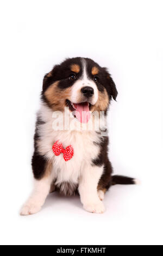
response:
{"label": "puppy's whole open mouth, dark lips and pink tongue included", "polygon": [[91,117],[91,103],[89,102],[80,102],[73,103],[70,100],[66,100],[66,106],[74,113],[80,123],[87,123]]}

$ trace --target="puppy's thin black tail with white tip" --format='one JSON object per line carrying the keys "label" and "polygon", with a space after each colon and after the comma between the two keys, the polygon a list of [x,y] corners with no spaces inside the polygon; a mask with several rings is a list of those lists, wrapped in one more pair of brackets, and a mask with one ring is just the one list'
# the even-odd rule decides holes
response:
{"label": "puppy's thin black tail with white tip", "polygon": [[127,176],[113,175],[111,176],[111,185],[122,184],[122,185],[131,185],[139,184],[139,181]]}

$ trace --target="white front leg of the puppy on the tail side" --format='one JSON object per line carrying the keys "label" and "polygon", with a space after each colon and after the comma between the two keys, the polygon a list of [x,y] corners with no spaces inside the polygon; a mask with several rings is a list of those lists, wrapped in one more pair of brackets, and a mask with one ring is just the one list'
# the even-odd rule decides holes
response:
{"label": "white front leg of the puppy on the tail side", "polygon": [[87,166],[79,180],[80,200],[86,211],[102,214],[105,211],[104,204],[98,197],[97,185],[103,173],[103,166]]}

